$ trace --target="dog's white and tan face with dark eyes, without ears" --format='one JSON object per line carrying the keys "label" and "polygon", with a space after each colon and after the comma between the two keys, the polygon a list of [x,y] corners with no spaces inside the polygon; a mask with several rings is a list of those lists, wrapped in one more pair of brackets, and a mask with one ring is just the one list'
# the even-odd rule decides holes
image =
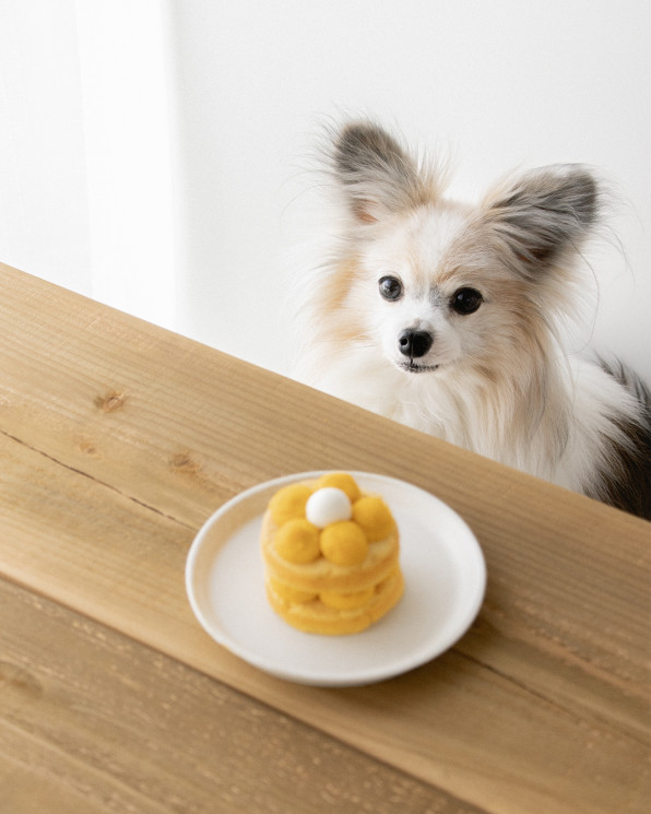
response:
{"label": "dog's white and tan face with dark eyes, without ears", "polygon": [[406,373],[480,363],[526,310],[517,281],[509,285],[487,251],[476,268],[467,222],[464,211],[423,207],[379,227],[358,256],[352,296],[365,333]]}

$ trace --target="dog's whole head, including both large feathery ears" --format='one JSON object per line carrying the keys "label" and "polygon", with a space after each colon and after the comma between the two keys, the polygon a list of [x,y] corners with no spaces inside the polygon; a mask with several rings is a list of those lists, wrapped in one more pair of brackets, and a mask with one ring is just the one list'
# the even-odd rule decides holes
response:
{"label": "dog's whole head, including both large feathery ears", "polygon": [[533,326],[563,297],[563,260],[595,216],[594,181],[573,167],[537,170],[476,208],[451,203],[370,125],[342,132],[335,172],[352,215],[347,310],[407,374],[472,365],[490,376],[535,342]]}

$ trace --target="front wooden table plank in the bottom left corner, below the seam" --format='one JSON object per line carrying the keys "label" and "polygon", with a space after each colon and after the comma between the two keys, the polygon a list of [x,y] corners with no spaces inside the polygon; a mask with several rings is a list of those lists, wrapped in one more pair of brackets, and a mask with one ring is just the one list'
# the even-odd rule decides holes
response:
{"label": "front wooden table plank in the bottom left corner, below the seam", "polygon": [[0,606],[7,814],[481,814],[2,580]]}

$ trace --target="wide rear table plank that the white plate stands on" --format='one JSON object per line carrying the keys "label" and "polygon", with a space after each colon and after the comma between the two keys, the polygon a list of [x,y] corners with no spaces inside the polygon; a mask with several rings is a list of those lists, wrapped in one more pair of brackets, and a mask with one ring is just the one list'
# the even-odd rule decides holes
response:
{"label": "wide rear table plank that the white plate stands on", "polygon": [[[2,280],[2,574],[464,804],[648,811],[648,523],[13,270]],[[489,573],[452,651],[358,689],[244,664],[199,628],[182,581],[225,499],[331,468],[437,494]]]}

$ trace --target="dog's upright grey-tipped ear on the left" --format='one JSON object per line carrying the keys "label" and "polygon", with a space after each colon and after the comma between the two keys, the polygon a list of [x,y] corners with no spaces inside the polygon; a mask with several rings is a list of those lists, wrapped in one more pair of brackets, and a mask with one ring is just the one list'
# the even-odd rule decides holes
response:
{"label": "dog's upright grey-tipped ear on the left", "polygon": [[350,123],[339,132],[332,167],[359,223],[375,223],[431,198],[425,174],[412,157],[370,122]]}

